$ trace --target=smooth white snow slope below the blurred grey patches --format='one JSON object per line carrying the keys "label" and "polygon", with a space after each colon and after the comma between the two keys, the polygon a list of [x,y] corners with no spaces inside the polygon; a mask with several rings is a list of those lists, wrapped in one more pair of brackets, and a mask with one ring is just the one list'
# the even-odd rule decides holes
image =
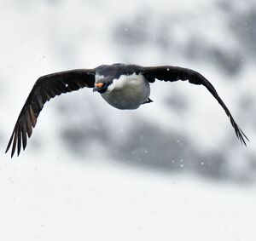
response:
{"label": "smooth white snow slope below the blurred grey patches", "polygon": [[73,161],[0,163],[1,240],[255,238],[255,186]]}

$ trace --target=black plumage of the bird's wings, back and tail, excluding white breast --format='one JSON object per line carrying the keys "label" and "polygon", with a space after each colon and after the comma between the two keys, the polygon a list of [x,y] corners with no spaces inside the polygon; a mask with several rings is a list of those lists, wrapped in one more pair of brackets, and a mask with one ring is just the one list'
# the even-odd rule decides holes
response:
{"label": "black plumage of the bird's wings, back and tail, excluding white breast", "polygon": [[[38,81],[34,84],[31,93],[28,95],[25,105],[21,109],[18,120],[15,123],[15,129],[6,148],[6,152],[8,152],[10,146],[12,146],[11,157],[13,157],[16,148],[17,154],[20,154],[21,145],[23,146],[23,150],[25,150],[27,136],[30,137],[32,135],[32,128],[36,126],[39,113],[45,102],[54,98],[55,95],[65,94],[84,87],[94,88],[96,84],[96,75],[108,77],[109,82],[112,83],[113,79],[119,79],[120,76],[131,76],[132,74],[142,74],[148,83],[154,83],[155,79],[166,82],[189,80],[189,83],[204,85],[214,98],[218,100],[220,106],[224,108],[224,111],[230,118],[230,123],[235,129],[237,138],[242,144],[245,146],[247,145],[247,136],[235,122],[229,109],[225,106],[224,101],[221,100],[216,89],[212,86],[212,83],[210,83],[206,77],[203,77],[201,73],[177,66],[144,67],[114,64],[109,66],[98,66],[95,69],[78,69],[67,72],[57,72],[39,77]],[[106,91],[106,89],[104,91]],[[149,102],[152,102],[152,100],[148,98],[148,101],[144,101],[143,103]]]}

